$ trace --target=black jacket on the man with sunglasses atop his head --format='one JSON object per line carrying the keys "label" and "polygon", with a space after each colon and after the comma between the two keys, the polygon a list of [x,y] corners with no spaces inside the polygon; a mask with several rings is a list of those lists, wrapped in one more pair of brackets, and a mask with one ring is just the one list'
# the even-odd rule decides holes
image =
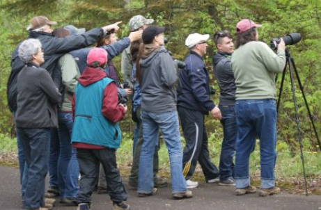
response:
{"label": "black jacket on the man with sunglasses atop his head", "polygon": [[235,105],[235,79],[230,54],[217,53],[212,57],[214,77],[219,84],[219,105]]}

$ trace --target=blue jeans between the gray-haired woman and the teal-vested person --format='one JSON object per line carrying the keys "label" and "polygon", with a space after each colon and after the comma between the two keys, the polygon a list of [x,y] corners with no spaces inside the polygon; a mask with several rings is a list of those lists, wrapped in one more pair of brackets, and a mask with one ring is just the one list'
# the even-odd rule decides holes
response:
{"label": "blue jeans between the gray-haired woman and the teal-vested person", "polygon": [[58,123],[60,154],[57,174],[60,197],[75,197],[79,190],[79,164],[77,161],[77,150],[72,148],[71,143],[72,113],[58,112]]}

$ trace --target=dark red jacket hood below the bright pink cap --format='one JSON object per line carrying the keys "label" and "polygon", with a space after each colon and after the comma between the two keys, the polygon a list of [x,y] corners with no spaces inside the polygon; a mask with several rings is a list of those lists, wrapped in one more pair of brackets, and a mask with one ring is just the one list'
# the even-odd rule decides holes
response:
{"label": "dark red jacket hood below the bright pink cap", "polygon": [[103,79],[104,77],[107,77],[107,74],[103,69],[86,67],[84,73],[81,74],[78,81],[81,83],[81,86],[86,87],[92,83],[95,83],[96,81],[100,81],[100,79]]}

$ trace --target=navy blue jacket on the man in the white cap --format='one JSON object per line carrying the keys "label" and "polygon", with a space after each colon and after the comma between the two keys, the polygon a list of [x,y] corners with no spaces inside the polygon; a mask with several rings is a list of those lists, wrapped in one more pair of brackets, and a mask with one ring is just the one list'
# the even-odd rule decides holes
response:
{"label": "navy blue jacket on the man in the white cap", "polygon": [[185,68],[179,72],[178,106],[208,114],[215,104],[210,99],[210,78],[203,58],[190,51],[185,64]]}

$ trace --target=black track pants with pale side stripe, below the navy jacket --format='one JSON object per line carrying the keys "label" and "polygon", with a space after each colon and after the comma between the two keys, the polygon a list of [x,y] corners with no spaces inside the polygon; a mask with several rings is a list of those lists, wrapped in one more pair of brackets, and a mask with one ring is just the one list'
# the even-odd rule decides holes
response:
{"label": "black track pants with pale side stripe, below the navy jacket", "polygon": [[185,179],[191,179],[197,161],[202,167],[206,180],[219,177],[217,166],[210,161],[208,134],[206,134],[205,130],[203,113],[178,106],[178,114],[180,115],[180,123],[186,141],[183,151],[183,170],[185,164],[191,159],[191,168]]}

